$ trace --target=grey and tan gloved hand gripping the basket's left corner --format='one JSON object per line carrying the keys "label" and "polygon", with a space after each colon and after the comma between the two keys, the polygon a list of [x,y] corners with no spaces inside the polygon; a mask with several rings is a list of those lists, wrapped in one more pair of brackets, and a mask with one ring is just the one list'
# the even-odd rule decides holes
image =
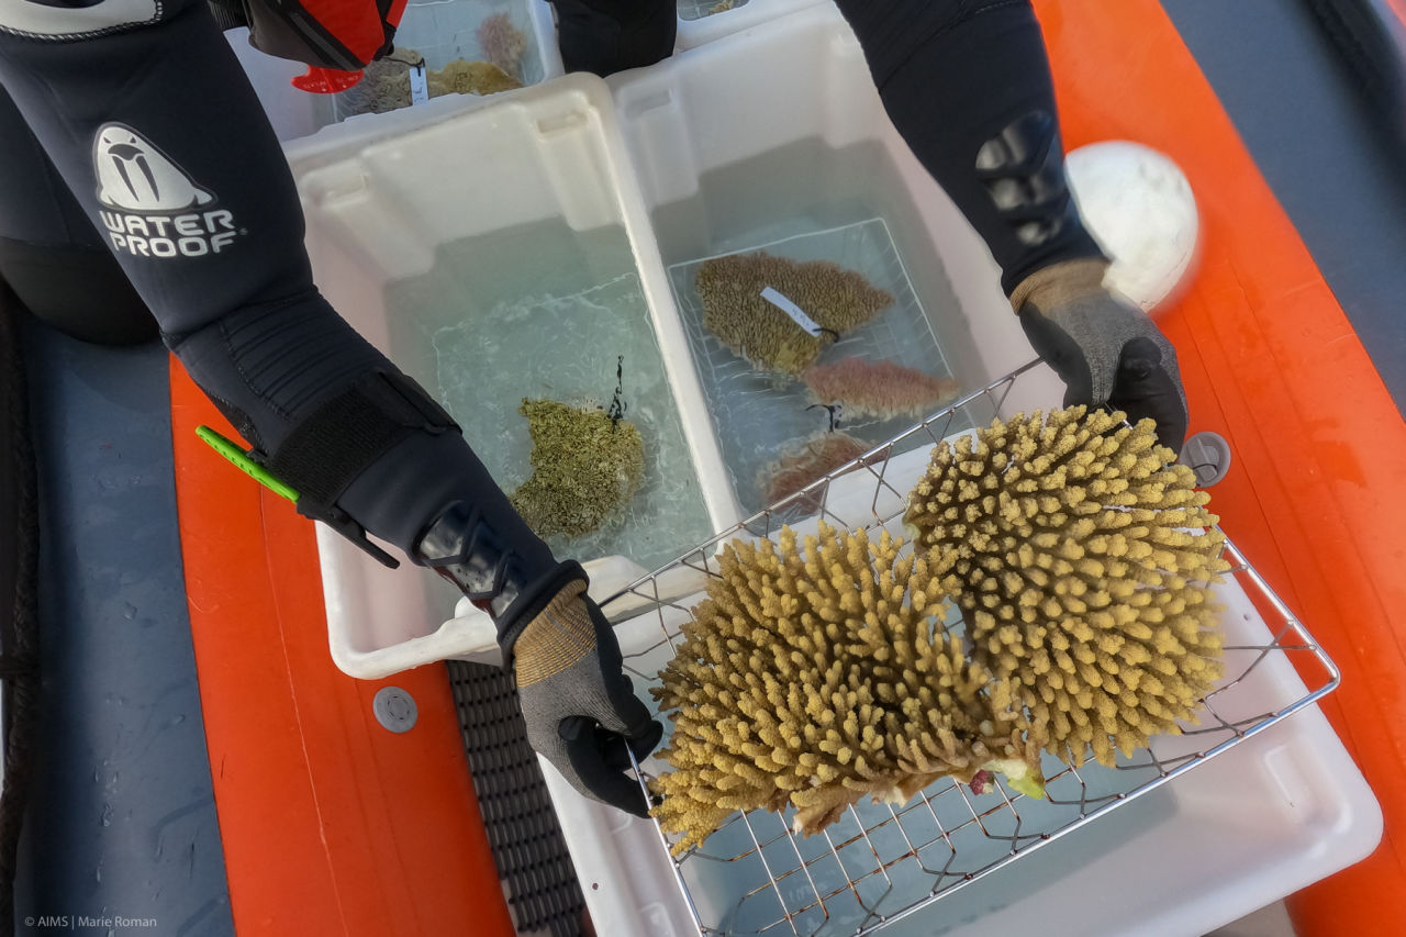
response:
{"label": "grey and tan gloved hand gripping the basket's left corner", "polygon": [[576,791],[645,816],[644,792],[624,774],[626,744],[644,758],[664,726],[634,695],[614,632],[585,591],[569,582],[513,643],[527,741]]}

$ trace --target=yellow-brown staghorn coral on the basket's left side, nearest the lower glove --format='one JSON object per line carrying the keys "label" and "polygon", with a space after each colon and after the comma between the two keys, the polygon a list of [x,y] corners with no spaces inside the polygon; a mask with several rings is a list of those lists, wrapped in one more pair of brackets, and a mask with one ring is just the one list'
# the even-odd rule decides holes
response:
{"label": "yellow-brown staghorn coral on the basket's left side, nearest the lower glove", "polygon": [[865,796],[907,801],[997,763],[1036,781],[1011,685],[942,630],[924,559],[901,539],[820,525],[804,549],[734,542],[652,691],[673,720],[654,815],[702,843],[733,812],[787,805],[823,830]]}

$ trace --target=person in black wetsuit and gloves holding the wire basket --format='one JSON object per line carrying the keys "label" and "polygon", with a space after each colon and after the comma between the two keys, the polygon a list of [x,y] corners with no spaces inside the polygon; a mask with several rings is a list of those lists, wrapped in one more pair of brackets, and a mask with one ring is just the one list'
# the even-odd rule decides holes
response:
{"label": "person in black wetsuit and gloves holding the wire basket", "polygon": [[[259,0],[245,0],[245,3]],[[356,1],[356,0],[347,0]],[[569,68],[648,65],[673,0],[555,0]],[[884,107],[990,246],[1066,402],[1153,416],[1180,447],[1175,353],[1101,286],[1028,0],[838,0]],[[643,815],[633,694],[581,566],[527,529],[458,426],[322,298],[281,151],[198,0],[0,0],[0,279],[100,342],[155,336],[302,492],[458,585],[498,625],[529,740]]]}

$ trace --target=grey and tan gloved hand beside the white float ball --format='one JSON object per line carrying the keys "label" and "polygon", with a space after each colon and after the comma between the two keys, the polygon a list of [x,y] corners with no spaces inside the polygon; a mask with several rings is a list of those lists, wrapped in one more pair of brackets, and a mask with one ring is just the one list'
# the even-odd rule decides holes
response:
{"label": "grey and tan gloved hand beside the white float ball", "polygon": [[1137,422],[1152,416],[1175,453],[1187,438],[1187,393],[1177,352],[1147,315],[1104,288],[1108,262],[1069,260],[1039,270],[1011,294],[1035,353],[1064,381],[1064,405],[1102,405]]}

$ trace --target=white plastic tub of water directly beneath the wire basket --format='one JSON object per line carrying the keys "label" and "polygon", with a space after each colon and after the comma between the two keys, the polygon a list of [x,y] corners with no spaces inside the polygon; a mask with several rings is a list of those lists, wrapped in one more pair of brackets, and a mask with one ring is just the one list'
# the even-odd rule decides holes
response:
{"label": "white plastic tub of water directly beneath the wire basket", "polygon": [[[907,491],[925,456],[920,449],[890,460],[884,480],[896,492]],[[862,525],[873,516],[875,490],[863,470],[842,476],[825,509]],[[896,494],[880,492],[879,499],[877,514],[901,512]],[[672,632],[688,619],[702,597],[696,588],[617,626],[641,692],[671,656],[661,627]],[[1364,858],[1381,837],[1381,810],[1319,709],[1263,727],[1309,695],[1295,663],[1313,688],[1331,675],[1296,650],[1302,642],[1282,620],[1267,627],[1247,588],[1258,591],[1246,573],[1218,587],[1226,606],[1227,677],[1215,713],[1225,723],[1202,713],[1208,734],[1154,739],[1157,763],[1137,753],[1121,771],[1087,764],[1060,774],[1046,757],[1049,801],[1002,806],[1010,792],[969,796],[939,782],[927,792],[932,819],[922,806],[897,808],[894,817],[889,808],[860,805],[863,836],[849,815],[828,836],[810,839],[787,837],[786,820],[756,812],[751,830],[734,820],[702,846],[704,855],[683,861],[685,892],[652,822],[583,799],[544,767],[596,927],[620,937],[682,937],[699,933],[696,913],[707,933],[848,936],[882,923],[866,919],[855,896],[875,914],[900,916],[941,889],[935,903],[882,933],[1197,937]],[[606,611],[614,612],[613,604]],[[1234,740],[1236,730],[1254,734]],[[1204,763],[1189,757],[1212,751]],[[647,760],[645,768],[664,765]],[[1160,771],[1181,774],[1160,782]],[[1139,791],[1147,784],[1160,786]],[[1132,799],[1119,802],[1118,795]],[[1081,819],[1098,809],[1107,813]],[[938,823],[946,836],[938,836]],[[1042,834],[1057,834],[1057,841],[1042,841]],[[1031,851],[1007,861],[1015,843]],[[905,857],[915,846],[920,858]],[[783,909],[793,920],[783,919]]]}

